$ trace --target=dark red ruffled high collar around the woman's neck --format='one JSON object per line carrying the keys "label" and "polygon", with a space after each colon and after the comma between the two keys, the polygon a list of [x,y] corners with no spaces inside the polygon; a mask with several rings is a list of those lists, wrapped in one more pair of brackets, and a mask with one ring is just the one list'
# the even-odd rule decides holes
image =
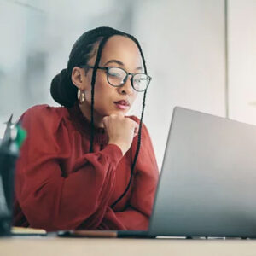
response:
{"label": "dark red ruffled high collar around the woman's neck", "polygon": [[[84,117],[81,109],[79,108],[79,103],[76,102],[72,108],[67,108],[71,121],[73,122],[74,127],[83,133],[83,135],[90,139],[90,120]],[[99,144],[108,143],[108,135],[105,132],[105,129],[102,127],[94,126],[94,142]]]}

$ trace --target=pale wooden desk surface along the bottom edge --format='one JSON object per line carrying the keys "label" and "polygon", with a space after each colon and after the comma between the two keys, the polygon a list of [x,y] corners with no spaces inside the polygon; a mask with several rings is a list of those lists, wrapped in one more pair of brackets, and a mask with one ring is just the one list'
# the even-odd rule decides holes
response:
{"label": "pale wooden desk surface along the bottom edge", "polygon": [[23,236],[0,238],[0,255],[253,256],[256,255],[256,240],[116,239]]}

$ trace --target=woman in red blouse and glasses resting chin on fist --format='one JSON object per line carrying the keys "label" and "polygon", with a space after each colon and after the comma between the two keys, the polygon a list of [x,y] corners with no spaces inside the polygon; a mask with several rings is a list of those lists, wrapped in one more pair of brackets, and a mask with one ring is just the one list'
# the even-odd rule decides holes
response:
{"label": "woman in red blouse and glasses resting chin on fist", "polygon": [[85,32],[51,95],[64,107],[21,116],[14,224],[45,230],[147,230],[158,168],[141,120],[125,117],[150,82],[137,39]]}

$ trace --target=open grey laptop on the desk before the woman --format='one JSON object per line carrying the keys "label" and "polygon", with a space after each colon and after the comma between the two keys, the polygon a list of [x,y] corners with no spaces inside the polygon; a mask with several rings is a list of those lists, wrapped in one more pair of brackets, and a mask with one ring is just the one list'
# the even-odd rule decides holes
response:
{"label": "open grey laptop on the desk before the woman", "polygon": [[[59,236],[88,232],[101,236],[86,230]],[[113,237],[256,237],[256,126],[174,108],[148,231],[101,232]]]}

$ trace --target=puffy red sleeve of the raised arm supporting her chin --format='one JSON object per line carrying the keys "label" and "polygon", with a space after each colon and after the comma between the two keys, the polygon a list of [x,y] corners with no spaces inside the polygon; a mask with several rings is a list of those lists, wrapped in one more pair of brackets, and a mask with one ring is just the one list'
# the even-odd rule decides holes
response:
{"label": "puffy red sleeve of the raised arm supporting her chin", "polygon": [[15,197],[30,226],[76,229],[88,219],[84,228],[96,229],[113,193],[120,148],[108,144],[74,159],[73,172],[65,176],[61,160],[73,150],[65,121],[44,105],[29,109],[21,123],[27,137],[16,165]]}

